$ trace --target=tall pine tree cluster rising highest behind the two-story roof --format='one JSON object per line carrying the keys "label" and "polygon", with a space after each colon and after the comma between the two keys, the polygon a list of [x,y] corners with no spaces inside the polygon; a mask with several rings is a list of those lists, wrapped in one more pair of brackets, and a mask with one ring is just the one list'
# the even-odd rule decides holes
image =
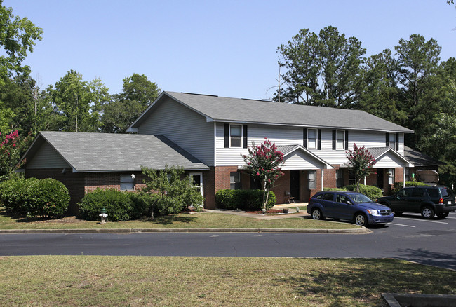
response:
{"label": "tall pine tree cluster rising highest behind the two-story roof", "polygon": [[[335,27],[309,29],[281,45],[279,65],[288,88],[281,89],[287,102],[328,107],[352,107],[366,49],[355,37],[347,39]],[[276,99],[275,99],[276,100]]]}

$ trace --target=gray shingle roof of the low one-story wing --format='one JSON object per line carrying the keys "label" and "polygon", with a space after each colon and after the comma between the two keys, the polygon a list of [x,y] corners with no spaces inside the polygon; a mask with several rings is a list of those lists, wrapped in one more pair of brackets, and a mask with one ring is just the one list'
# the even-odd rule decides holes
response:
{"label": "gray shingle roof of the low one-story wing", "polygon": [[[207,165],[163,136],[40,132],[78,172],[163,169],[207,170]],[[29,149],[30,150],[30,149]]]}

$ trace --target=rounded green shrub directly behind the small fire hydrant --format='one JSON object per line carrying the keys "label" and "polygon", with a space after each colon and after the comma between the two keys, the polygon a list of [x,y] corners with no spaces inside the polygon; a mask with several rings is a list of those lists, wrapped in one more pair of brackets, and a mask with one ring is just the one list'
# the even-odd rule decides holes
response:
{"label": "rounded green shrub directly behind the small fire hydrant", "polygon": [[135,212],[131,192],[116,189],[96,189],[88,192],[79,203],[79,213],[82,219],[97,221],[102,208],[106,209],[110,221],[128,221]]}

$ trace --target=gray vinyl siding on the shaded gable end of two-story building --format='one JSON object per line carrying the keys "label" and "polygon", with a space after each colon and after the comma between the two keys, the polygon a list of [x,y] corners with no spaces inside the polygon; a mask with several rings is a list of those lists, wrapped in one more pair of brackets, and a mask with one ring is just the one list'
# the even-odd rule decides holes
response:
{"label": "gray vinyl siding on the shaded gable end of two-story building", "polygon": [[[214,124],[168,98],[138,127],[141,135],[164,135],[206,165],[214,165]],[[147,153],[145,153],[147,154]]]}

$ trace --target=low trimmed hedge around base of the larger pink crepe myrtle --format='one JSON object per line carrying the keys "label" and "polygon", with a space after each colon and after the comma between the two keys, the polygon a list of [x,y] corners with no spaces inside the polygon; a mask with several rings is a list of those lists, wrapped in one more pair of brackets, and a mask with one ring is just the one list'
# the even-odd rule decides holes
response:
{"label": "low trimmed hedge around base of the larger pink crepe myrtle", "polygon": [[[231,190],[224,189],[215,193],[217,207],[231,210],[261,210],[263,207],[262,190]],[[271,209],[276,204],[276,194],[269,191],[266,209]]]}

